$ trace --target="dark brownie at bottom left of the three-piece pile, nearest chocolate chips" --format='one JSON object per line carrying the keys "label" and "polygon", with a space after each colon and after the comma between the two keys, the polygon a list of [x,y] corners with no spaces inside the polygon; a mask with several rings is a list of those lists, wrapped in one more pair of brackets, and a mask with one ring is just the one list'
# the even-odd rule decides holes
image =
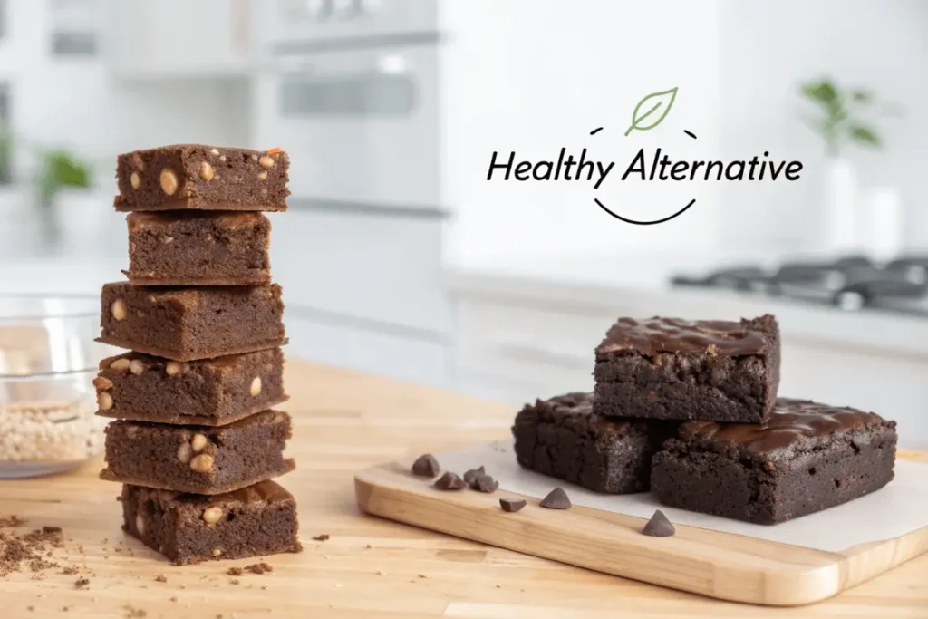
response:
{"label": "dark brownie at bottom left of the three-piece pile, nearest chocolate chips", "polygon": [[651,458],[677,423],[612,419],[593,412],[592,393],[566,393],[526,405],[512,434],[526,469],[609,494],[644,492]]}

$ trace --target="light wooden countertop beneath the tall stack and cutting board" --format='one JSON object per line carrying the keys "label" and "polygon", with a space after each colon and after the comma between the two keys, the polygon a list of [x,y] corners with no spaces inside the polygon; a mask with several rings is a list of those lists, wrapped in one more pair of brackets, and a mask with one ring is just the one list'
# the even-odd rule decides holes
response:
{"label": "light wooden countertop beneath the tall stack and cutting board", "polygon": [[[78,575],[10,574],[0,578],[0,610],[148,619],[272,611],[394,619],[928,616],[928,555],[800,611],[709,600],[367,517],[354,503],[355,471],[505,437],[514,411],[299,361],[288,364],[287,386],[297,471],[280,481],[300,506],[302,554],[269,557],[273,574],[244,574],[238,585],[226,570],[251,561],[174,567],[122,535],[119,486],[98,480],[101,463],[92,462],[68,475],[0,482],[0,517],[62,527],[69,542],[56,561],[80,566],[90,580],[78,590]],[[928,461],[928,454],[907,456]],[[329,540],[313,540],[321,534]]]}

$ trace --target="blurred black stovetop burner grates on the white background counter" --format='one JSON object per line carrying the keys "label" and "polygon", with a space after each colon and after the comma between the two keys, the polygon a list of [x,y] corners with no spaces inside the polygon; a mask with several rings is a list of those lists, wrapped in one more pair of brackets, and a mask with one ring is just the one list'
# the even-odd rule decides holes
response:
{"label": "blurred black stovetop burner grates on the white background counter", "polygon": [[702,277],[677,276],[677,287],[738,290],[838,307],[928,316],[928,256],[901,256],[876,264],[864,256],[826,262],[791,262],[764,269],[741,265]]}

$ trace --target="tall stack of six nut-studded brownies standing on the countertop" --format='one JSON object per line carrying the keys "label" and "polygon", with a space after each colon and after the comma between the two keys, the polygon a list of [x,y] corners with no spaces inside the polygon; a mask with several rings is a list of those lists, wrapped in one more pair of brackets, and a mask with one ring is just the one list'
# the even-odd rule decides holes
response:
{"label": "tall stack of six nut-studded brownies standing on the countertop", "polygon": [[296,504],[270,481],[290,416],[273,410],[287,343],[271,283],[270,222],[286,211],[280,149],[169,146],[120,155],[129,281],[103,287],[94,384],[107,427],[105,480],[122,528],[178,564],[295,552]]}

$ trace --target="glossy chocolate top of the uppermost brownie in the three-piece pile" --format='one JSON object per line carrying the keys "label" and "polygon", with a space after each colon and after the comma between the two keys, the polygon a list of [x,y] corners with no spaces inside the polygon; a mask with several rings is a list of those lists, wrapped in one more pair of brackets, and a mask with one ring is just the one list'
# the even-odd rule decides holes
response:
{"label": "glossy chocolate top of the uppermost brownie in the three-piece pile", "polygon": [[754,321],[682,320],[654,316],[644,320],[619,318],[599,344],[597,353],[631,350],[655,353],[760,355],[767,346],[764,331]]}

